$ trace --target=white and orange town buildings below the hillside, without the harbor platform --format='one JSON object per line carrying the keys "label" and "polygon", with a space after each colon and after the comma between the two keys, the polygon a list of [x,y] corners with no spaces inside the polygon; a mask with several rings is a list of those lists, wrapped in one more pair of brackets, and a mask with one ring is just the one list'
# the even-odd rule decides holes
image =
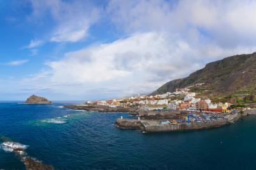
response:
{"label": "white and orange town buildings below the hillside, without the harbor platform", "polygon": [[192,111],[192,112],[231,112],[231,103],[213,103],[209,98],[199,98],[190,89],[176,89],[175,92],[167,92],[163,95],[138,95],[119,100],[86,101],[77,107],[85,110],[104,111],[127,110],[130,114],[139,114],[143,111]]}

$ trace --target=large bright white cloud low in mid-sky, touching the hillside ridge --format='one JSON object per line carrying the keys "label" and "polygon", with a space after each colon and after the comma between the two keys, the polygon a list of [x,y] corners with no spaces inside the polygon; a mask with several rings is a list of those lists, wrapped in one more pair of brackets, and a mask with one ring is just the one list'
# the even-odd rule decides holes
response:
{"label": "large bright white cloud low in mid-sky, touching the hillside ridge", "polygon": [[[108,44],[66,53],[49,70],[19,84],[69,96],[97,98],[149,93],[164,82],[201,69],[205,63],[252,49],[194,46],[167,32],[134,34]],[[204,58],[208,56],[208,58]]]}

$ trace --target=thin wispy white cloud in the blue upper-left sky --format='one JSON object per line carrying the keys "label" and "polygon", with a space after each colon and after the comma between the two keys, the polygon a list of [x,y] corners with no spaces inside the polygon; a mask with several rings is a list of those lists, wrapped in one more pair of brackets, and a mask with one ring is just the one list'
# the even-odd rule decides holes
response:
{"label": "thin wispy white cloud in the blue upper-left sky", "polygon": [[89,27],[99,19],[100,10],[87,1],[31,1],[30,20],[43,20],[50,15],[53,30],[50,41],[77,42],[87,37]]}

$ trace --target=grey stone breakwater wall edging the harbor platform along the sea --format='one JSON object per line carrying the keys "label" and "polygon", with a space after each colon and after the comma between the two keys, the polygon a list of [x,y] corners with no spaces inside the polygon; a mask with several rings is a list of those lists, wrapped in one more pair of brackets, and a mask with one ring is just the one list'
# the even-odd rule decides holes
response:
{"label": "grey stone breakwater wall edging the harbor platform along the sea", "polygon": [[231,114],[225,119],[208,122],[178,122],[176,124],[159,124],[157,120],[135,120],[117,119],[115,125],[121,129],[139,129],[142,132],[165,132],[165,131],[185,131],[196,129],[208,129],[224,126],[238,121],[247,114]]}

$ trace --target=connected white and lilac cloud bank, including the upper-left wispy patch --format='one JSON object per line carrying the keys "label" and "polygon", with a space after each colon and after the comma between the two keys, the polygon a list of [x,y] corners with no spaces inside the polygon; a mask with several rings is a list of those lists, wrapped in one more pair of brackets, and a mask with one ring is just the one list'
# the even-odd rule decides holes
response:
{"label": "connected white and lilac cloud bank, including the upper-left wispy patch", "polygon": [[[33,17],[49,10],[57,21],[50,41],[80,41],[100,18],[82,1],[31,2]],[[208,62],[256,51],[255,9],[255,1],[112,0],[101,12],[121,37],[70,51],[20,84],[86,99],[150,93]]]}

